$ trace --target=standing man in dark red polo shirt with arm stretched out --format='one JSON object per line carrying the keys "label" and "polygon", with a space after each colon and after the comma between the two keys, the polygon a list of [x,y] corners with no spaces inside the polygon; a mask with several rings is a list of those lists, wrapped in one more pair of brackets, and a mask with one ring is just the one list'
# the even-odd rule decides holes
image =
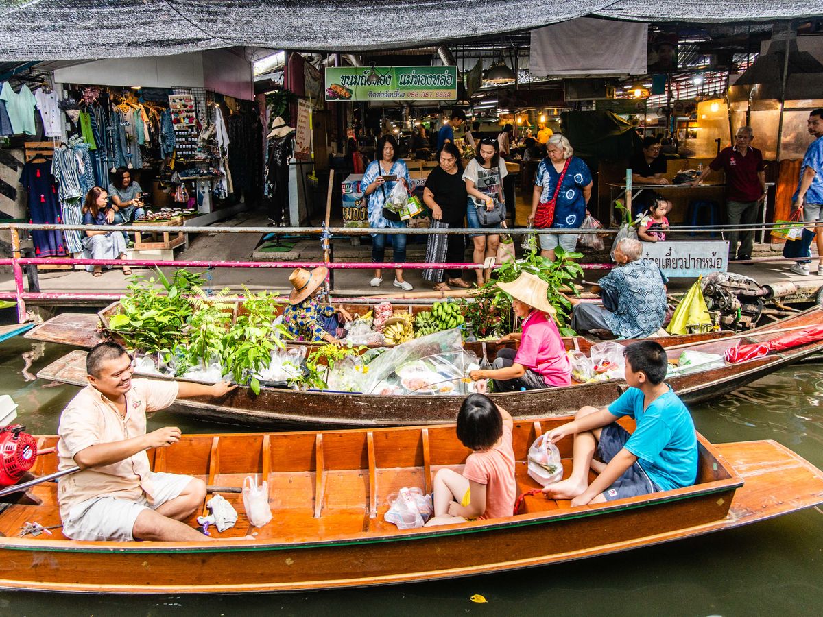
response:
{"label": "standing man in dark red polo shirt with arm stretched out", "polygon": [[[757,222],[760,202],[766,198],[765,165],[763,153],[751,147],[755,132],[751,127],[737,129],[734,147],[723,148],[717,158],[703,170],[692,186],[697,186],[711,172],[726,172],[726,212],[729,225],[751,226]],[[737,248],[737,240],[740,248]],[[751,259],[755,244],[755,230],[728,233],[728,258]]]}

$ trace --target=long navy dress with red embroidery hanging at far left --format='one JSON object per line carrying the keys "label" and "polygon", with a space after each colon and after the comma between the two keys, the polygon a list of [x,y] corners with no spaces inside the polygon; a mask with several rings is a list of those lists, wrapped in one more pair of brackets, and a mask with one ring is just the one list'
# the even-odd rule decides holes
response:
{"label": "long navy dress with red embroidery hanging at far left", "polygon": [[[51,174],[51,163],[27,162],[23,165],[20,183],[28,193],[29,222],[53,225],[63,222],[57,196],[57,186]],[[35,257],[65,255],[66,247],[60,231],[32,231]]]}

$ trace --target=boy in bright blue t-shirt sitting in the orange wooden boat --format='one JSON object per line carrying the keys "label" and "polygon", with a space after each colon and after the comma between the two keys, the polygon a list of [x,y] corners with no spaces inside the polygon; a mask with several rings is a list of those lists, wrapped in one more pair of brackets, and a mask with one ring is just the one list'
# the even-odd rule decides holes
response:
{"label": "boy in bright blue t-shirt sitting in the orange wooden boat", "polygon": [[[573,422],[549,432],[552,443],[574,435],[571,476],[543,489],[552,499],[571,499],[576,507],[679,489],[697,479],[695,423],[663,382],[666,351],[654,341],[639,341],[624,354],[631,387],[608,408],[582,407]],[[635,419],[634,433],[616,423],[621,415]],[[599,474],[591,485],[590,468]]]}

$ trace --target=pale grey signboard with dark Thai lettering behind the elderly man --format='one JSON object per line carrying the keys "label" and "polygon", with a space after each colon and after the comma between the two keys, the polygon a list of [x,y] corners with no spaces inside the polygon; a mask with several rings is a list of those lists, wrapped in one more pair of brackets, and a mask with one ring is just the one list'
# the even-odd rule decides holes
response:
{"label": "pale grey signboard with dark Thai lettering behind the elderly man", "polygon": [[644,242],[640,257],[649,257],[666,276],[696,277],[728,270],[728,241],[675,240]]}

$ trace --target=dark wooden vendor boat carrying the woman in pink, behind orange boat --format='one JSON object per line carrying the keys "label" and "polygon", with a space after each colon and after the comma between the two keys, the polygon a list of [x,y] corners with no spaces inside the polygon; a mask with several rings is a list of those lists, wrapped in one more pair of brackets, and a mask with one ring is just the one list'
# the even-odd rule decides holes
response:
{"label": "dark wooden vendor boat carrying the woman in pink, behind orange boat", "polygon": [[[775,332],[792,327],[823,322],[823,308],[810,308],[803,313],[752,330],[740,340],[719,339],[689,346],[689,349],[723,355],[740,343],[769,341]],[[625,343],[632,341],[623,341]],[[746,383],[764,377],[775,370],[802,360],[823,350],[823,341],[766,355],[755,360],[727,364],[718,369],[698,370],[668,379],[675,392],[694,404],[732,392]],[[670,347],[670,359],[678,358],[683,349]],[[49,364],[37,376],[52,381],[86,385],[86,352],[74,350]],[[491,394],[495,402],[512,411],[518,418],[539,418],[576,411],[582,405],[605,406],[625,390],[622,379],[555,387],[528,392]],[[441,424],[457,416],[462,401],[459,396],[380,396],[348,392],[302,392],[263,387],[258,395],[249,387],[238,387],[220,401],[198,398],[176,401],[171,408],[185,415],[250,426],[299,424],[302,426],[411,426]]]}

